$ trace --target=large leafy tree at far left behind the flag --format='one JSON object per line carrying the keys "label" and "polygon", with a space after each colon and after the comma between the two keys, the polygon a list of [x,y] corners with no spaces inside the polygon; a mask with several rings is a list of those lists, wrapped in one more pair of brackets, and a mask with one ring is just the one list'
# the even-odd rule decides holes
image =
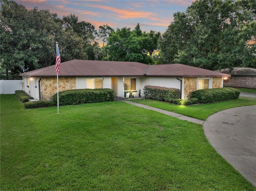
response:
{"label": "large leafy tree at far left behind the flag", "polygon": [[62,30],[62,20],[49,10],[26,10],[14,1],[2,1],[0,12],[1,67],[11,74],[53,65],[56,41],[63,61],[85,59],[84,41],[72,30]]}

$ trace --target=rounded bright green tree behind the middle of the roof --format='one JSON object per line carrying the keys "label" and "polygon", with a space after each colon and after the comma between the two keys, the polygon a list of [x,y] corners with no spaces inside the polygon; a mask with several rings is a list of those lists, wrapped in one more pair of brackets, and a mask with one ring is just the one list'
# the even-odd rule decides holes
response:
{"label": "rounded bright green tree behind the middle of the roof", "polygon": [[109,59],[152,64],[154,61],[151,55],[157,47],[159,36],[160,33],[153,31],[142,32],[139,24],[132,31],[126,27],[117,29],[116,32],[111,32],[108,38]]}

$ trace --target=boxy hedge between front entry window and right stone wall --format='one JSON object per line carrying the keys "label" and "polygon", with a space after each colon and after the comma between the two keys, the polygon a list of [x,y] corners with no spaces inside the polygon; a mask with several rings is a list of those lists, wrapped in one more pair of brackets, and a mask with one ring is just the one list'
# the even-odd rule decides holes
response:
{"label": "boxy hedge between front entry window and right stone wall", "polygon": [[159,86],[145,86],[144,97],[147,99],[171,102],[173,99],[180,97],[180,90],[176,88],[166,88]]}

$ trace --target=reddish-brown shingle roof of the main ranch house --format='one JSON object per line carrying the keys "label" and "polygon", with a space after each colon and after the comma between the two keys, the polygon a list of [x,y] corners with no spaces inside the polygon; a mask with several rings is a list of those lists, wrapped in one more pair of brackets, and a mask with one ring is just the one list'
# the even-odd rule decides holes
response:
{"label": "reddish-brown shingle roof of the main ranch house", "polygon": [[[20,74],[24,77],[56,77],[55,65]],[[147,65],[138,62],[71,60],[60,63],[59,77],[224,77],[228,74],[182,64]]]}

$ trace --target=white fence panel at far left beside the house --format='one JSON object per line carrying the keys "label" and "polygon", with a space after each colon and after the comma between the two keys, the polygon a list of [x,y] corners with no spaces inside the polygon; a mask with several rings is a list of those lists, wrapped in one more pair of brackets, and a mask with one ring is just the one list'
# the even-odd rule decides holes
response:
{"label": "white fence panel at far left beside the house", "polygon": [[22,80],[0,80],[0,94],[14,94],[16,90],[23,90]]}

